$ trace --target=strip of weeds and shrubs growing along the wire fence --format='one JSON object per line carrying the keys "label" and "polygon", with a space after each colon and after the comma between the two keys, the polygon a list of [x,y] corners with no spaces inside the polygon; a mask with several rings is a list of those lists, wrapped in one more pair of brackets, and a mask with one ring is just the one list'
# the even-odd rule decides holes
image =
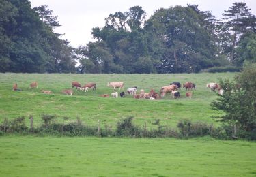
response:
{"label": "strip of weeds and shrubs growing along the wire fence", "polygon": [[[116,127],[104,125],[100,127],[100,120],[96,126],[89,126],[83,123],[80,118],[70,123],[56,123],[55,115],[44,114],[41,116],[42,125],[34,127],[33,116],[24,116],[8,120],[5,118],[0,125],[1,135],[20,133],[23,135],[64,135],[64,136],[99,136],[99,137],[132,137],[132,138],[191,138],[210,135],[214,138],[228,138],[221,133],[221,129],[206,123],[192,123],[190,120],[183,119],[177,127],[161,125],[160,120],[156,120],[153,125],[156,128],[147,128],[145,122],[143,127],[132,123],[133,116],[120,120]],[[65,117],[64,117],[65,119]],[[30,121],[27,127],[26,120]]]}

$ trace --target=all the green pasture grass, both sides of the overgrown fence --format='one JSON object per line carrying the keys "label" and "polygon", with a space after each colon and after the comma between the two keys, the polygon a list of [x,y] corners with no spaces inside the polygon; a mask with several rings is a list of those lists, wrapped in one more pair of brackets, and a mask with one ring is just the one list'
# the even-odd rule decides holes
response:
{"label": "all the green pasture grass, both sides of the overgrown fence", "polygon": [[[0,121],[29,115],[35,126],[42,124],[41,114],[55,114],[58,122],[80,117],[87,125],[112,125],[127,116],[134,123],[156,128],[161,124],[176,127],[182,118],[218,126],[211,117],[223,114],[210,108],[216,93],[205,88],[218,78],[233,80],[235,74],[0,74]],[[75,91],[72,97],[61,91],[72,81],[96,82],[97,90]],[[38,82],[38,89],[29,84]],[[137,86],[150,91],[170,82],[195,82],[193,98],[150,101],[132,97],[102,98],[111,93],[107,82],[123,81],[125,88]],[[22,91],[12,91],[18,84]],[[44,95],[41,90],[51,90]],[[70,119],[64,120],[68,116]],[[255,142],[223,141],[213,138],[178,140],[173,138],[95,138],[0,136],[0,176],[256,176]]]}

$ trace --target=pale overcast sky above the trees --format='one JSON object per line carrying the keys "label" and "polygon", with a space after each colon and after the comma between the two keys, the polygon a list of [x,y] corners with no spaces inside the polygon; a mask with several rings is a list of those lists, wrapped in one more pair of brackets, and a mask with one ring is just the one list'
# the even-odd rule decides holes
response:
{"label": "pale overcast sky above the trees", "polygon": [[92,41],[91,29],[104,27],[104,18],[110,13],[127,12],[130,7],[139,5],[147,13],[147,18],[160,8],[186,6],[187,4],[199,5],[199,10],[212,12],[220,19],[224,10],[233,6],[234,2],[244,2],[256,14],[256,0],[30,0],[32,7],[48,5],[53,10],[53,16],[58,16],[61,27],[55,28],[55,32],[63,33],[63,39],[68,39],[70,45],[85,46]]}

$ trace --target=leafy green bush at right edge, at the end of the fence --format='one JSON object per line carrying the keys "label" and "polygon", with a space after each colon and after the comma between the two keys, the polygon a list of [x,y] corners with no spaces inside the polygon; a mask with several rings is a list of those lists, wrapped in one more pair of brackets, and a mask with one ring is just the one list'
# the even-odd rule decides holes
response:
{"label": "leafy green bush at right edge, at the end of the fence", "polygon": [[246,66],[235,82],[220,80],[223,95],[212,102],[212,108],[225,114],[218,116],[234,137],[256,140],[256,64]]}

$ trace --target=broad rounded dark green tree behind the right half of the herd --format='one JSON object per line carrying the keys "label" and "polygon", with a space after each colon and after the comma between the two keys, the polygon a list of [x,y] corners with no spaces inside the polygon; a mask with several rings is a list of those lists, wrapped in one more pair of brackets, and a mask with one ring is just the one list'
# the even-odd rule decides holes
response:
{"label": "broad rounded dark green tree behind the right half of the herd", "polygon": [[146,30],[156,33],[165,46],[158,72],[199,71],[212,65],[216,48],[209,13],[188,5],[160,9],[150,17]]}

